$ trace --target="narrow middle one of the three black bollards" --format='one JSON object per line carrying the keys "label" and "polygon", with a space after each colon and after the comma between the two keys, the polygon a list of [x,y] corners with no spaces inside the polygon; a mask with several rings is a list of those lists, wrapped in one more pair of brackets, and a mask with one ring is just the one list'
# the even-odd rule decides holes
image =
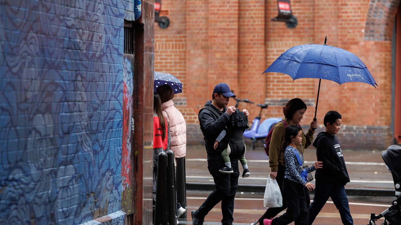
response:
{"label": "narrow middle one of the three black bollards", "polygon": [[167,151],[167,205],[168,205],[168,224],[177,224],[177,203],[175,192],[175,172],[174,172],[174,153]]}

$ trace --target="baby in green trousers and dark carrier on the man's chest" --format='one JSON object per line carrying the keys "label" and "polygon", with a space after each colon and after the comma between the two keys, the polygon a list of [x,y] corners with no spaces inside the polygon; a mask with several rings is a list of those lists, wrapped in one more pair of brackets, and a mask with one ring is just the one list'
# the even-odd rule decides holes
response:
{"label": "baby in green trousers and dark carrier on the man's chest", "polygon": [[[249,173],[247,160],[245,159],[246,148],[245,148],[245,141],[242,137],[245,129],[249,128],[248,119],[247,119],[247,117],[245,117],[243,112],[240,112],[237,109],[231,115],[229,122],[230,122],[229,125],[227,125],[227,127],[226,127],[227,131],[226,130],[221,131],[219,137],[217,137],[215,144],[213,145],[213,148],[217,149],[217,146],[219,145],[221,140],[223,140],[223,138],[226,136],[227,132],[230,132],[229,136],[233,137],[235,139],[235,140],[231,140],[231,141],[233,141],[233,143],[243,145],[243,148],[245,149],[243,155],[241,157],[239,157],[239,162],[241,163],[242,168],[243,168],[242,177],[243,178],[249,177],[249,175],[251,175],[251,173]],[[230,140],[228,140],[228,141],[230,141]],[[221,157],[223,157],[224,164],[226,167],[221,168],[219,170],[220,173],[233,173],[234,172],[233,168],[231,168],[231,161],[230,161],[230,157],[229,157],[230,153],[231,153],[231,150],[230,150],[230,145],[228,142],[227,147],[221,153]]]}

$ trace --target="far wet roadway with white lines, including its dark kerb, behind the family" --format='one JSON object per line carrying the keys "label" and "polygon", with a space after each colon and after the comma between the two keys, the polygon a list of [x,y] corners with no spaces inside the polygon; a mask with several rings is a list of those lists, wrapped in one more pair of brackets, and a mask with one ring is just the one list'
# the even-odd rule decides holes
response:
{"label": "far wet roadway with white lines, including its dark kerb, behind the family", "polygon": [[[391,173],[385,167],[381,151],[342,150],[351,182],[346,185],[347,195],[394,196]],[[247,151],[245,155],[251,176],[239,178],[238,191],[264,192],[270,173],[268,157],[261,147]],[[316,149],[305,150],[305,165],[316,161]],[[239,168],[242,173],[242,168]],[[314,173],[314,172],[313,172]],[[314,183],[314,181],[312,181]],[[214,189],[213,177],[207,170],[204,146],[188,146],[186,153],[186,186],[188,190]]]}

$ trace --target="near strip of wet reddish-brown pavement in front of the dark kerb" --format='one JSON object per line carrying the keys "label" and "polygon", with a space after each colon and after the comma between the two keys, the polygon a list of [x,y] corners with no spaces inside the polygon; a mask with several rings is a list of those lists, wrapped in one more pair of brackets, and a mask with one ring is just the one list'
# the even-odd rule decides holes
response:
{"label": "near strip of wet reddish-brown pavement in front of the dark kerb", "polygon": [[[188,218],[187,222],[180,222],[182,224],[192,224],[190,211],[197,209],[199,205],[205,201],[209,195],[207,191],[187,191],[187,208]],[[313,199],[313,195],[311,195]],[[370,213],[379,213],[387,209],[391,202],[395,199],[392,197],[353,197],[348,196],[350,202],[350,211],[355,225],[366,225],[369,222]],[[237,193],[235,197],[234,208],[234,225],[249,225],[254,223],[265,212],[266,208],[263,207],[263,195],[261,193]],[[284,211],[282,212],[284,213]],[[279,215],[281,215],[280,213]],[[204,225],[217,225],[221,224],[221,205],[217,204],[215,208],[209,212],[205,217]],[[381,224],[383,220],[377,221]],[[294,224],[294,223],[290,223]],[[318,217],[313,224],[316,225],[334,225],[342,224],[338,210],[331,202],[331,199],[324,205]]]}

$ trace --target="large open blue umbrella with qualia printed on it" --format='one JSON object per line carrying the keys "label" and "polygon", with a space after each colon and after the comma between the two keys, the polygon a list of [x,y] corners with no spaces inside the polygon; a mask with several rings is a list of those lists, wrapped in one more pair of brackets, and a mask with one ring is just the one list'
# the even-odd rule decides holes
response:
{"label": "large open blue umbrella with qualia printed on it", "polygon": [[319,78],[315,121],[321,79],[332,80],[338,84],[364,82],[374,87],[375,85],[377,86],[368,68],[356,55],[342,48],[326,45],[326,40],[327,37],[324,40],[324,44],[294,46],[281,54],[265,70],[265,72],[288,74],[293,80],[299,78]]}

